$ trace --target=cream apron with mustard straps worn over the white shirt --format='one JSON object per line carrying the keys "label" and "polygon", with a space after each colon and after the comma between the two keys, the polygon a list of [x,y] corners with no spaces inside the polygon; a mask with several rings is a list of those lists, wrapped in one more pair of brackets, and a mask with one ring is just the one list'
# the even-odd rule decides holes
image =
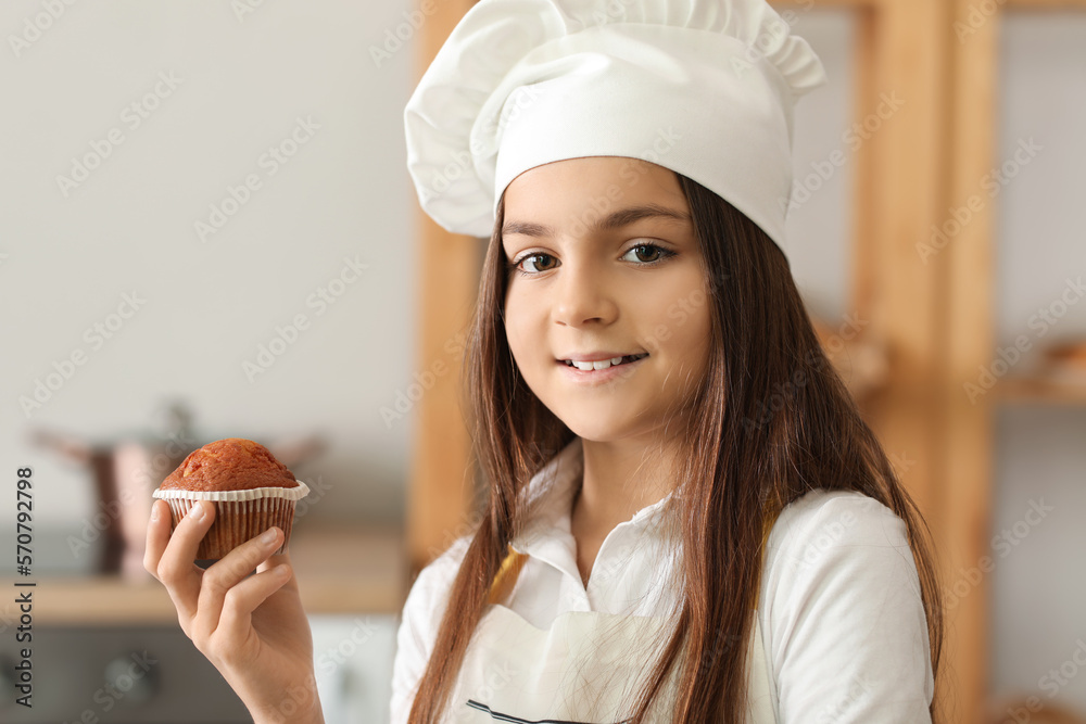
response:
{"label": "cream apron with mustard straps worn over the white shirt", "polygon": [[[566,611],[536,628],[506,600],[528,556],[509,548],[491,586],[453,696],[447,724],[533,722],[615,724],[632,713],[668,632],[664,617]],[[775,724],[769,670],[755,615],[748,642],[748,724]],[[680,659],[649,708],[647,722],[668,724]],[[644,681],[643,681],[644,679]]]}

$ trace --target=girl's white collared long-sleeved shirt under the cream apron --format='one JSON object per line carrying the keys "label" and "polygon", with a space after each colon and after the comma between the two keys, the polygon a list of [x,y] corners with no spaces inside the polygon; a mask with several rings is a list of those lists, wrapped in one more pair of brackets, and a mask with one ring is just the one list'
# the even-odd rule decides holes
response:
{"label": "girl's white collared long-sleeved shirt under the cream apron", "polygon": [[[583,472],[580,439],[529,485],[533,516],[513,547],[529,555],[505,606],[539,628],[564,611],[662,615],[678,547],[655,525],[671,497],[607,534],[588,587],[570,533]],[[392,724],[407,721],[469,538],[422,569],[396,634]],[[934,693],[920,581],[905,522],[861,493],[812,491],[788,505],[767,543],[759,607],[781,724],[931,722]]]}

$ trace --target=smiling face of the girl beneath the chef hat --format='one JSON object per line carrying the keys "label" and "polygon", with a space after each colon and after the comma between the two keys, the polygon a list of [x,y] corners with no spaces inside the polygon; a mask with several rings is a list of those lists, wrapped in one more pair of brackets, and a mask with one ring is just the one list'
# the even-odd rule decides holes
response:
{"label": "smiling face of the girl beneath the chef hat", "polygon": [[586,440],[678,433],[662,427],[706,371],[710,320],[675,175],[619,156],[536,166],[505,191],[502,246],[506,335],[543,404]]}

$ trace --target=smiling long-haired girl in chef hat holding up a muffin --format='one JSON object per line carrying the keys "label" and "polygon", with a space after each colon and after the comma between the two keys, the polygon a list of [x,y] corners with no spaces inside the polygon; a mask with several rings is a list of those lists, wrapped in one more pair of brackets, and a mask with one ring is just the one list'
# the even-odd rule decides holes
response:
{"label": "smiling long-haired girl in chef hat holding up a muffin", "polygon": [[[939,721],[930,534],[780,245],[822,81],[761,0],[481,0],[450,36],[408,166],[490,236],[488,495],[408,595],[394,724]],[[201,572],[195,510],[148,529],[182,628],[256,722],[321,721],[281,532]]]}

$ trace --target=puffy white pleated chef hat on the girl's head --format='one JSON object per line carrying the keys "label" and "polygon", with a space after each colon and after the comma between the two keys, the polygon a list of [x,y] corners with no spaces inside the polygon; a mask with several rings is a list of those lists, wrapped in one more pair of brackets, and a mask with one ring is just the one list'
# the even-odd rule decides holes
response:
{"label": "puffy white pleated chef hat on the girl's head", "polygon": [[480,0],[404,111],[419,203],[489,237],[529,168],[643,158],[715,191],[784,242],[793,105],[825,84],[765,0]]}

